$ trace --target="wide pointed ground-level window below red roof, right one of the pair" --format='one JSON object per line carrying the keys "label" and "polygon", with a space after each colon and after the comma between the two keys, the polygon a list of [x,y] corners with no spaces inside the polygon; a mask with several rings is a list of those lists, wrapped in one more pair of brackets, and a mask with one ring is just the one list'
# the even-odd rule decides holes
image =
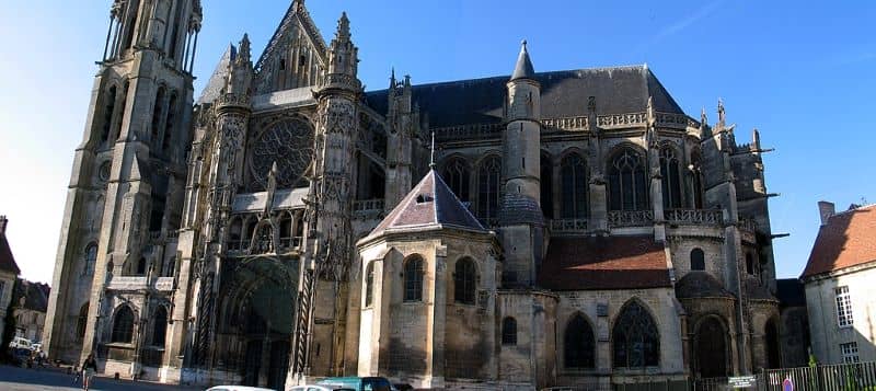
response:
{"label": "wide pointed ground-level window below red roof, right one of the pair", "polygon": [[615,368],[656,367],[660,360],[660,333],[642,304],[633,301],[621,311],[612,329]]}

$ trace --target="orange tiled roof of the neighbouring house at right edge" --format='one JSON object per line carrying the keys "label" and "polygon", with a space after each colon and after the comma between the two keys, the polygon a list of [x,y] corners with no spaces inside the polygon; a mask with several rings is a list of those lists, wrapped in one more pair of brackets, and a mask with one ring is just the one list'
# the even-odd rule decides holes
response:
{"label": "orange tiled roof of the neighbouring house at right edge", "polygon": [[844,211],[818,231],[802,277],[876,262],[876,205]]}

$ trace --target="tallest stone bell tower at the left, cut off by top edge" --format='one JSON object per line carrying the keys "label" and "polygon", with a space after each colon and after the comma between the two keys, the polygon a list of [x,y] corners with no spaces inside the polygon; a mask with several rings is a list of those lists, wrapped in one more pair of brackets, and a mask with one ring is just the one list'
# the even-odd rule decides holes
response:
{"label": "tallest stone bell tower at the left, cut off by top edge", "polygon": [[[97,347],[113,276],[148,280],[175,267],[200,23],[199,0],[113,3],[61,227],[45,332],[53,358]],[[148,296],[125,298],[140,320]]]}

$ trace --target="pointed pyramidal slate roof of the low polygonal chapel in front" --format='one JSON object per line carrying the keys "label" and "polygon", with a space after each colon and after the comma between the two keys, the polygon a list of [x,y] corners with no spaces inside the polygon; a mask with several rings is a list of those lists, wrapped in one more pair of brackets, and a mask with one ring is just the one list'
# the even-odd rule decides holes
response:
{"label": "pointed pyramidal slate roof of the low polygonal chapel in front", "polygon": [[422,227],[463,228],[486,232],[435,170],[430,170],[414,186],[399,206],[371,231],[371,235]]}

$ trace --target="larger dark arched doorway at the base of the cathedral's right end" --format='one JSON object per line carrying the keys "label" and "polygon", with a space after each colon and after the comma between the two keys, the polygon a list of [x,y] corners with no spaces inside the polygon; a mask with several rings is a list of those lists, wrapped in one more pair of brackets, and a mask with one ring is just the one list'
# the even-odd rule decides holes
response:
{"label": "larger dark arched doorway at the base of the cathedral's right end", "polygon": [[694,340],[696,375],[702,379],[727,376],[727,332],[714,317],[700,322]]}

